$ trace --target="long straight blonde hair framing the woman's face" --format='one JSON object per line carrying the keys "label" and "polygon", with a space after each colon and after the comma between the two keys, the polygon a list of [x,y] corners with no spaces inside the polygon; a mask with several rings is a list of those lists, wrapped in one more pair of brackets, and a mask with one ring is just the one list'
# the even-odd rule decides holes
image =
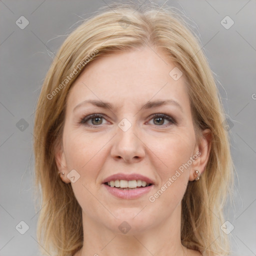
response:
{"label": "long straight blonde hair framing the woman's face", "polygon": [[229,241],[220,226],[232,187],[233,163],[216,82],[188,23],[174,8],[152,3],[139,9],[131,3],[112,3],[110,9],[96,11],[67,36],[47,71],[33,132],[34,184],[41,207],[37,239],[44,248],[42,253],[73,255],[83,244],[81,207],[71,184],[59,178],[54,157],[62,140],[66,98],[73,82],[87,62],[147,46],[163,50],[182,71],[197,137],[205,128],[211,131],[205,170],[199,181],[188,182],[181,202],[181,243],[203,255],[229,253]]}

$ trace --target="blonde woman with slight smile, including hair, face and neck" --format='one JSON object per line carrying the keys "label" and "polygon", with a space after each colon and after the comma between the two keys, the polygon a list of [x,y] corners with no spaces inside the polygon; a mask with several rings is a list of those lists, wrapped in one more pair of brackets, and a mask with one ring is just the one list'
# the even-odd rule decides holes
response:
{"label": "blonde woman with slight smile, including hair, face and neck", "polygon": [[37,237],[51,255],[227,255],[223,109],[170,8],[112,4],[63,42],[34,122]]}

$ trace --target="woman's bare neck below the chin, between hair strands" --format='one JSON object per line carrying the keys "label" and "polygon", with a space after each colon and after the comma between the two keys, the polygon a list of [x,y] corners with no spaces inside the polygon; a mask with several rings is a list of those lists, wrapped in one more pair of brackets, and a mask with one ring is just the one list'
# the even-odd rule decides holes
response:
{"label": "woman's bare neck below the chin, between hair strands", "polygon": [[[188,250],[180,241],[179,204],[173,214],[156,226],[146,230],[132,228],[126,233],[117,233],[82,213],[83,247],[75,256],[113,255],[188,255]],[[133,230],[132,230],[133,229]]]}

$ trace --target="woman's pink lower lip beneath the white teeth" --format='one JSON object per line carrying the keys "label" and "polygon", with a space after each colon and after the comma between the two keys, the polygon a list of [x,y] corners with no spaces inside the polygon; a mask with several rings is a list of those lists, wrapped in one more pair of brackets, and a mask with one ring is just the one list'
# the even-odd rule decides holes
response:
{"label": "woman's pink lower lip beneath the white teeth", "polygon": [[144,186],[141,188],[135,188],[135,189],[128,189],[123,190],[116,187],[111,187],[106,184],[103,184],[108,192],[110,192],[112,195],[122,198],[122,199],[135,199],[141,196],[142,194],[148,193],[153,185],[150,186]]}

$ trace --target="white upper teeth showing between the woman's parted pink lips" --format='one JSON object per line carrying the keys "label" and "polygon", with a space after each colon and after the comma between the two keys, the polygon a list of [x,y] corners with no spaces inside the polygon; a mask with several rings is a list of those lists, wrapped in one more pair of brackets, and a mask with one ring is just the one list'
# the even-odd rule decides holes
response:
{"label": "white upper teeth showing between the woman's parted pink lips", "polygon": [[141,180],[141,179],[138,179],[138,180],[116,179],[116,180],[110,180],[108,182],[104,182],[103,184],[109,187],[116,187],[120,190],[141,189],[143,187],[152,185],[152,183],[147,183],[145,180]]}

